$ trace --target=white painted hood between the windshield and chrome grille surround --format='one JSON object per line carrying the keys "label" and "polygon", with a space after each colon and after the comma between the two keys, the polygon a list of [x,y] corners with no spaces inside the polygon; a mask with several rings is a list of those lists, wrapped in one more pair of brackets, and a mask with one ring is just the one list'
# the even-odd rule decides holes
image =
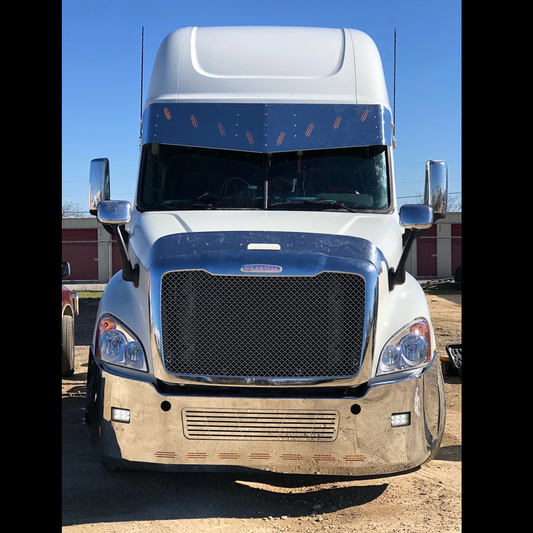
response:
{"label": "white painted hood between the windshield and chrome grille surround", "polygon": [[135,212],[126,229],[133,252],[147,269],[152,245],[161,237],[209,231],[282,231],[359,237],[374,244],[388,265],[395,267],[401,255],[403,232],[396,213],[330,211]]}

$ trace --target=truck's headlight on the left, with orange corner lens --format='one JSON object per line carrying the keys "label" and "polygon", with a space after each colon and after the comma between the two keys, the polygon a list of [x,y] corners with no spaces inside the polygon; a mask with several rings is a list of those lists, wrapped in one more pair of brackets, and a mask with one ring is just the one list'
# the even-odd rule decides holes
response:
{"label": "truck's headlight on the left, with orange corner lens", "polygon": [[112,315],[104,314],[98,322],[96,357],[113,365],[148,371],[139,339]]}

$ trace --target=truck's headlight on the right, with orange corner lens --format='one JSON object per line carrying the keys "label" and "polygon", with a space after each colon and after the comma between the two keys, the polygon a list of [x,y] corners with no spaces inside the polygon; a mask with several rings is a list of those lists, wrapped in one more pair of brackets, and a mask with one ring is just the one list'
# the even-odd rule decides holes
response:
{"label": "truck's headlight on the right, with orange corner lens", "polygon": [[427,320],[418,318],[401,329],[381,351],[378,375],[420,368],[431,360],[431,343]]}

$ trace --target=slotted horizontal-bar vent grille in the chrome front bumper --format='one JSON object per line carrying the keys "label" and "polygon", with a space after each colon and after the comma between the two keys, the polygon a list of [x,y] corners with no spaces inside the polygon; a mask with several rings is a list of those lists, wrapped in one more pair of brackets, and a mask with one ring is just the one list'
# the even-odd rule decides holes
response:
{"label": "slotted horizontal-bar vent grille in the chrome front bumper", "polygon": [[185,437],[199,440],[333,441],[338,411],[184,409]]}

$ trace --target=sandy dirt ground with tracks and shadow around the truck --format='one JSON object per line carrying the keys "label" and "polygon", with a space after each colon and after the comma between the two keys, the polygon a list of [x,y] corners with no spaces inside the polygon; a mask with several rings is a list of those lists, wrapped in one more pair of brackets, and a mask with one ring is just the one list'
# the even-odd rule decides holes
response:
{"label": "sandy dirt ground with tracks and shadow around the truck", "polygon": [[[426,295],[437,349],[461,342],[461,295]],[[461,531],[461,380],[445,377],[447,419],[437,457],[395,477],[350,480],[273,474],[107,472],[83,426],[97,300],[76,317],[76,371],[62,381],[62,529],[442,533]]]}

